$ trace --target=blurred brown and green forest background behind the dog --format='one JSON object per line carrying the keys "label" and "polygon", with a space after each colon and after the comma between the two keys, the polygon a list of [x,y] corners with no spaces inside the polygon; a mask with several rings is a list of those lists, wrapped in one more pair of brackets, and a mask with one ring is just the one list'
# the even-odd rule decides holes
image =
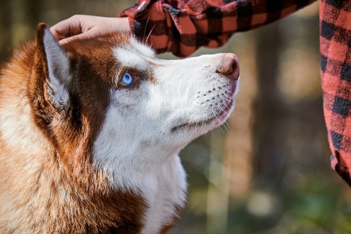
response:
{"label": "blurred brown and green forest background behind the dog", "polygon": [[[33,38],[40,22],[114,17],[134,3],[0,0],[1,60]],[[351,233],[351,189],[329,166],[318,8],[315,3],[194,55],[237,54],[241,91],[232,118],[181,152],[189,203],[170,233]]]}

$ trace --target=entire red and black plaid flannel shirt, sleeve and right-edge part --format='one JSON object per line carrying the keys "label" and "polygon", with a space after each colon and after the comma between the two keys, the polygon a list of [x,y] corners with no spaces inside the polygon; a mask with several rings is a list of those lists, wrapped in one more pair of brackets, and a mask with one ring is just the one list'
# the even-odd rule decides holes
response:
{"label": "entire red and black plaid flannel shirt, sleeve and right-edge part", "polygon": [[[119,14],[157,53],[179,57],[281,19],[315,0],[138,0]],[[351,186],[351,1],[320,1],[323,110],[331,166]]]}

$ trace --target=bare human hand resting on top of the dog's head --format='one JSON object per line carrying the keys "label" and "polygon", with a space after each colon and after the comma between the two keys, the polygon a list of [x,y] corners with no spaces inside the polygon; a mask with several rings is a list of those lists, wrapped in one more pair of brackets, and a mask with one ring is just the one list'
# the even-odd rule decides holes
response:
{"label": "bare human hand resting on top of the dog's head", "polygon": [[67,37],[59,41],[63,45],[100,34],[129,31],[129,22],[128,18],[75,15],[52,26],[50,31],[54,36]]}

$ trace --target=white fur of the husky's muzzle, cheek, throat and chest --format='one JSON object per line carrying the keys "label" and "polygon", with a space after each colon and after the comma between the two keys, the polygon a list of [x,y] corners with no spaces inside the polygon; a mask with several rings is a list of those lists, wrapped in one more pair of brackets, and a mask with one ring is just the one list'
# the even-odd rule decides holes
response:
{"label": "white fur of the husky's muzzle, cheek, throat and chest", "polygon": [[222,54],[164,61],[132,39],[114,55],[116,62],[146,70],[152,79],[111,90],[93,162],[106,170],[113,187],[141,192],[149,207],[142,232],[156,233],[170,221],[174,205],[185,203],[179,151],[227,119],[238,88],[216,73]]}

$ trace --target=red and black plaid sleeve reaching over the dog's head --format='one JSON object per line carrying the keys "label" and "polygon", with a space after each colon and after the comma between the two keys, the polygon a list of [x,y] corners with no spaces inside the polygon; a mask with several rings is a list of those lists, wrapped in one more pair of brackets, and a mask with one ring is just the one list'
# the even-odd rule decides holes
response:
{"label": "red and black plaid sleeve reaching over the dog's head", "polygon": [[[202,46],[216,48],[239,31],[255,29],[315,0],[138,0],[119,17],[158,53],[179,57]],[[149,35],[150,34],[150,35]]]}

